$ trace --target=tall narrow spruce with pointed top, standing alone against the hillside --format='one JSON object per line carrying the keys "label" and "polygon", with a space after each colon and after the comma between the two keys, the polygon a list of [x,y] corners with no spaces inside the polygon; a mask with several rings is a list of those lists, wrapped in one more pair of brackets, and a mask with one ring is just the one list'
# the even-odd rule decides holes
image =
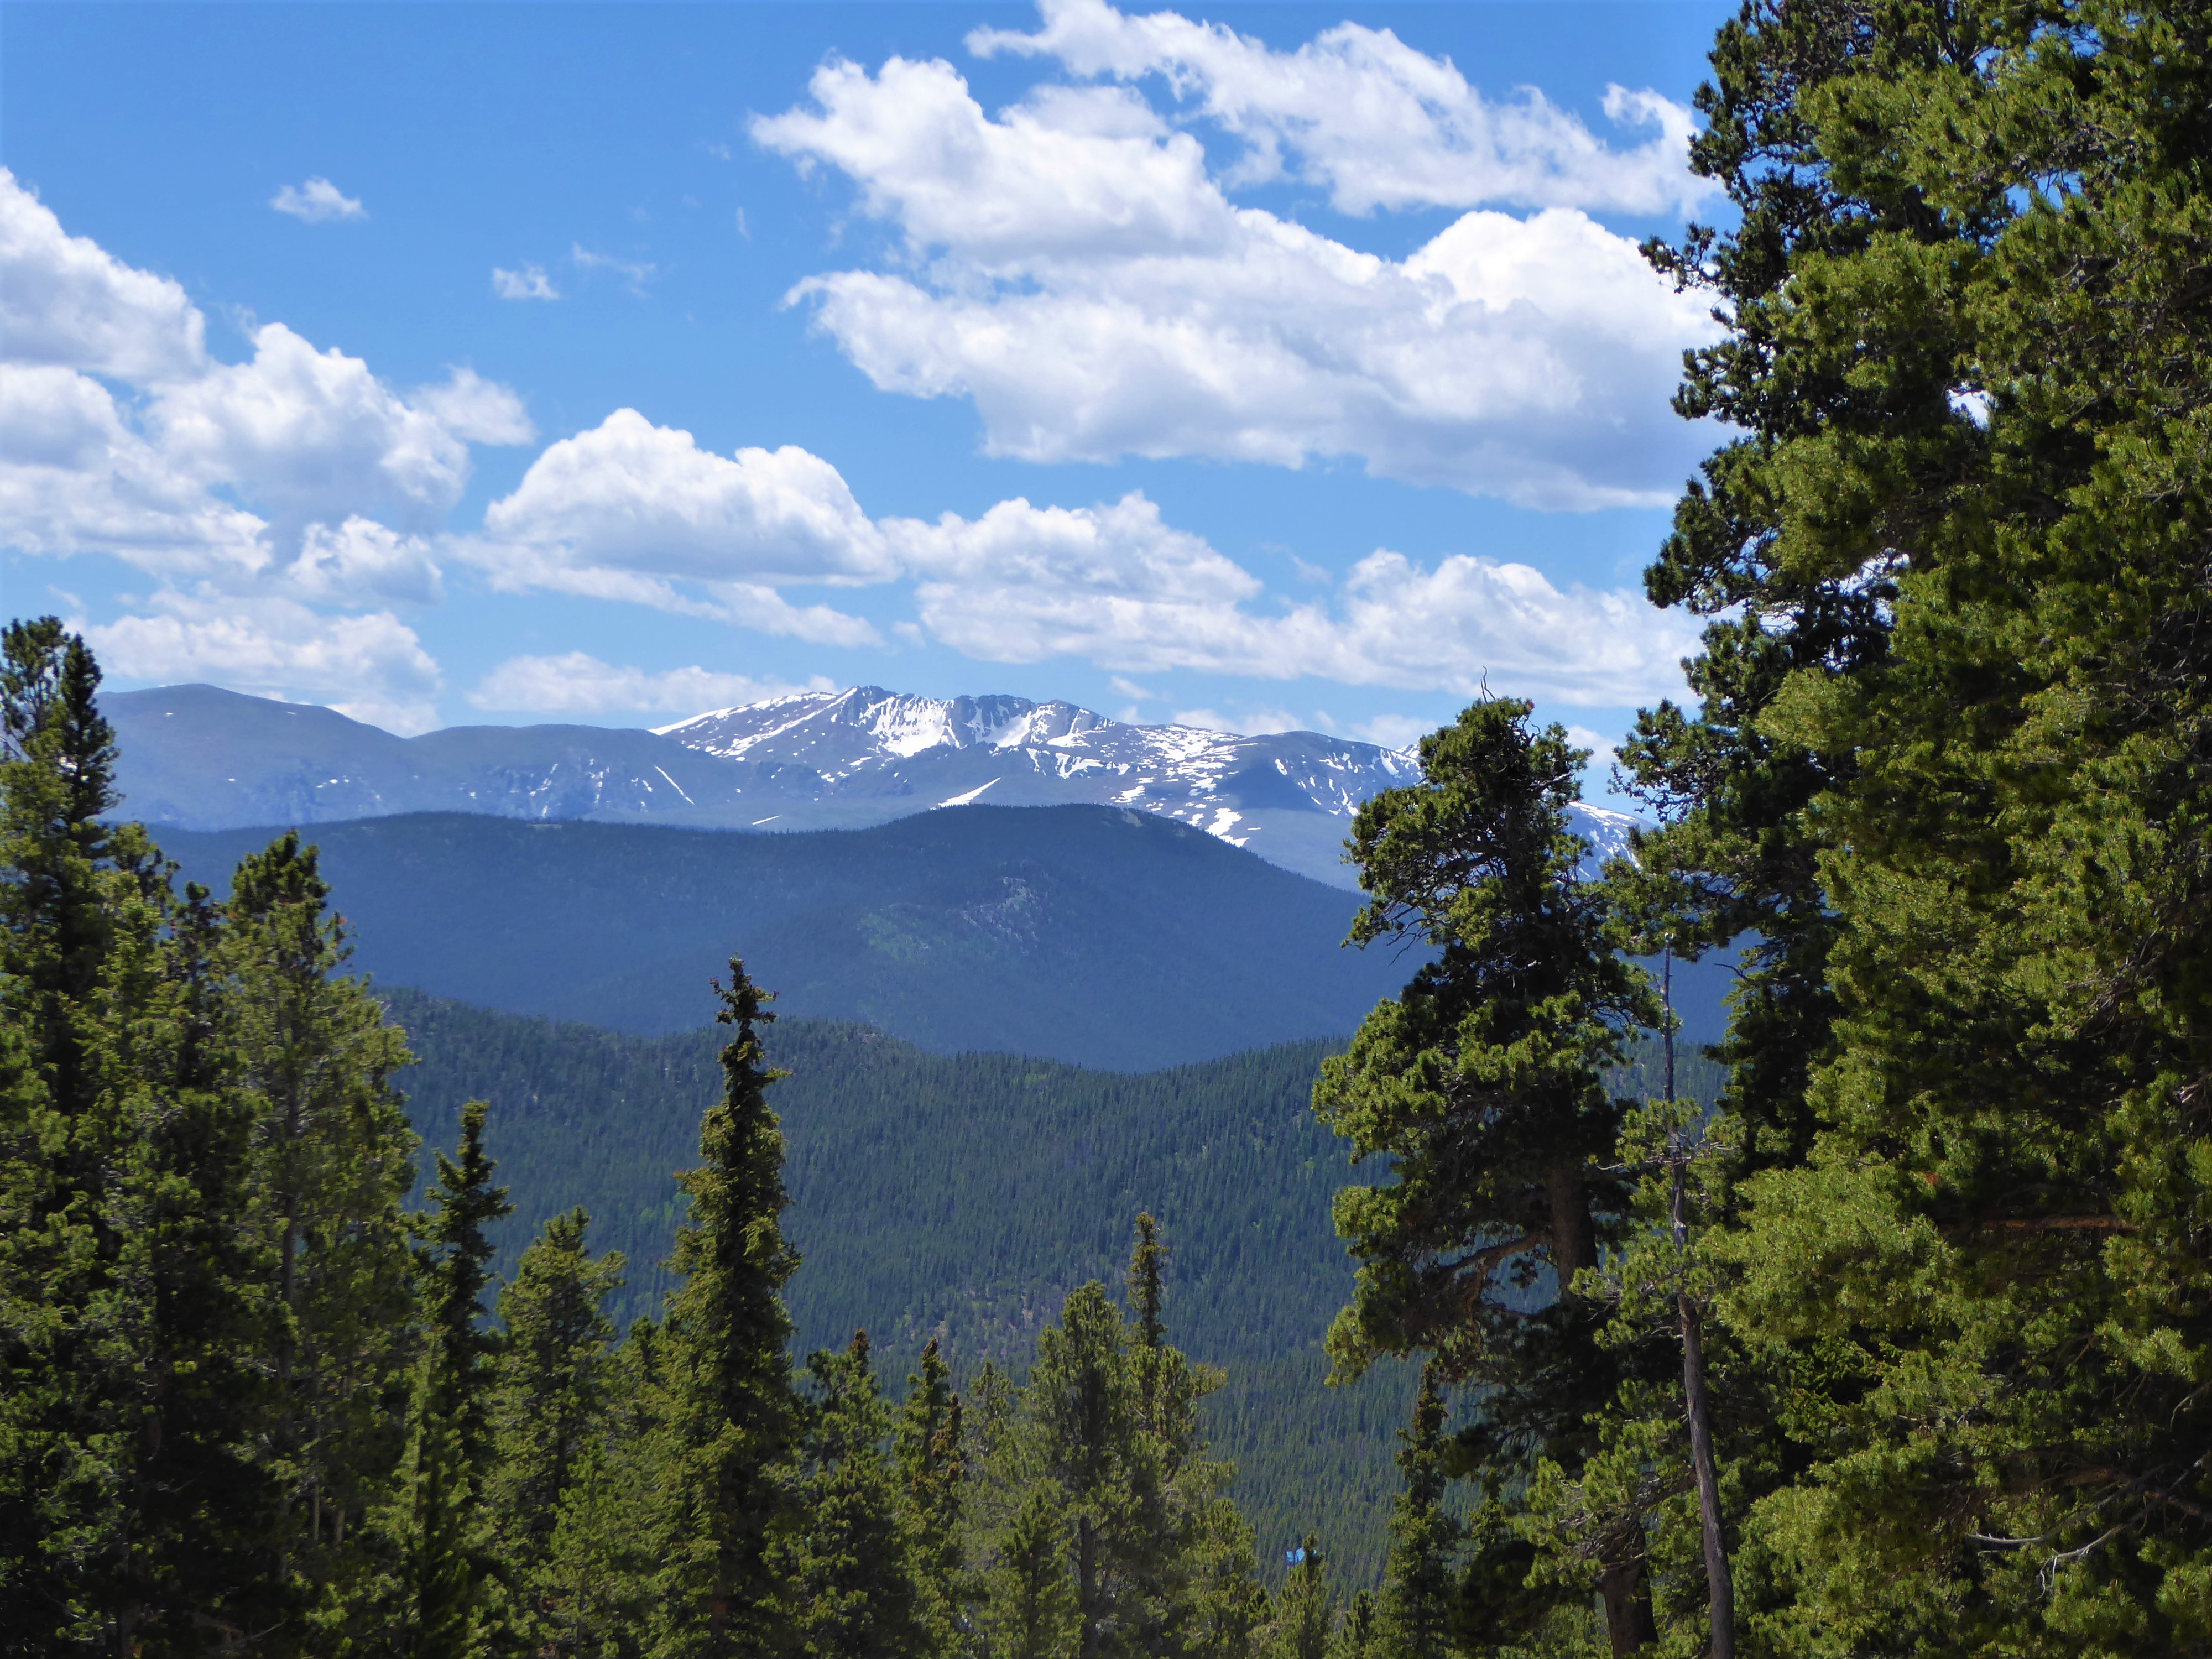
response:
{"label": "tall narrow spruce with pointed top, standing alone against the hillside", "polygon": [[701,1168],[681,1179],[690,1219],[672,1267],[659,1340],[659,1491],[653,1659],[752,1659],[787,1646],[790,1610],[770,1542],[790,1500],[783,1467],[796,1431],[783,1285],[799,1256],[783,1243],[783,1133],[768,1106],[779,1073],[757,1026],[774,1015],[730,962],[719,1022],[726,1093],[699,1130]]}

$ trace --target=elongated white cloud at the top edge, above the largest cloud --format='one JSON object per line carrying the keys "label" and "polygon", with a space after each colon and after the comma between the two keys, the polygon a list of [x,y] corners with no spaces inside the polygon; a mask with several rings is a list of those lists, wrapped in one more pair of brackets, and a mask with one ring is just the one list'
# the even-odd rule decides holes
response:
{"label": "elongated white cloud at the top edge, above the largest cloud", "polygon": [[1318,184],[1343,212],[1376,208],[1626,208],[1688,212],[1712,184],[1688,168],[1694,117],[1652,91],[1606,91],[1606,117],[1657,128],[1613,150],[1533,86],[1482,97],[1449,58],[1389,29],[1338,24],[1292,53],[1172,11],[1040,0],[1035,33],[978,29],[969,51],[1057,58],[1077,75],[1164,75],[1203,119],[1245,142],[1239,184]]}

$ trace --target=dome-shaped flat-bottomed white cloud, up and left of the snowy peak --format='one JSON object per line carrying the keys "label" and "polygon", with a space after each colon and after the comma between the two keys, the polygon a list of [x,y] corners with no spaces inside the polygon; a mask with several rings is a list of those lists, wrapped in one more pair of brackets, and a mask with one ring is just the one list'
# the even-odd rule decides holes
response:
{"label": "dome-shaped flat-bottomed white cloud, up and left of the snowy peak", "polygon": [[484,511],[502,573],[611,571],[661,582],[880,582],[883,535],[836,467],[785,445],[717,456],[617,409],[531,462]]}

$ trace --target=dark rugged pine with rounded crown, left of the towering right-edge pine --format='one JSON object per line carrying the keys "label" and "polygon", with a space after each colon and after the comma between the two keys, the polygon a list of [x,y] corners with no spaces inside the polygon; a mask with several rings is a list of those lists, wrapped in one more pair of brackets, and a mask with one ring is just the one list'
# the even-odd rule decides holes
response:
{"label": "dark rugged pine with rounded crown, left of the towering right-edge pine", "polygon": [[[1376,1354],[1427,1349],[1444,1378],[1482,1387],[1462,1444],[1491,1495],[1546,1460],[1579,1469],[1586,1420],[1617,1387],[1575,1274],[1624,1225],[1601,1071],[1624,1026],[1659,1020],[1610,947],[1606,891],[1577,880],[1586,845],[1566,807],[1584,757],[1528,712],[1473,703],[1422,739],[1420,785],[1360,807],[1369,902],[1352,938],[1438,956],[1314,1088],[1356,1159],[1396,1159],[1396,1181],[1336,1197],[1360,1270],[1329,1356],[1356,1376]],[[1595,1546],[1615,1652],[1635,1652],[1650,1635],[1641,1524]]]}

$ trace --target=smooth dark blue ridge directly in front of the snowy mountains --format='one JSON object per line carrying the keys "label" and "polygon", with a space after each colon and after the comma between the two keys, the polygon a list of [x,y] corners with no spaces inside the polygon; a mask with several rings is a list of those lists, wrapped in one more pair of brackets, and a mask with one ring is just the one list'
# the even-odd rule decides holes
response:
{"label": "smooth dark blue ridge directly in front of the snowy mountains", "polygon": [[[223,891],[268,830],[168,832]],[[1115,807],[958,807],[754,836],[418,814],[316,825],[356,967],[617,1031],[699,1022],[732,951],[790,1015],[927,1048],[1146,1068],[1349,1033],[1400,964],[1356,900]]]}

